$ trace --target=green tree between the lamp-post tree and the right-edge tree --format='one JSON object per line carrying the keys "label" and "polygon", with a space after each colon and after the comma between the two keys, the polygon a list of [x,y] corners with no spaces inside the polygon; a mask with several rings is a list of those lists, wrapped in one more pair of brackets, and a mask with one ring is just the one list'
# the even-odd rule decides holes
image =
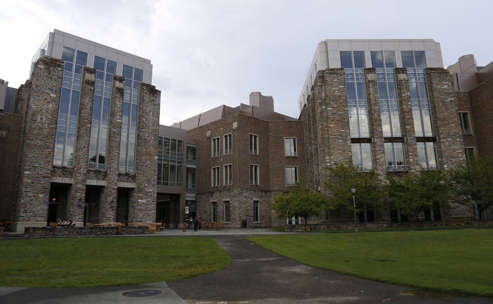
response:
{"label": "green tree between the lamp-post tree and the right-edge tree", "polygon": [[409,172],[399,179],[387,176],[387,207],[403,214],[418,214],[426,210],[447,208],[451,199],[447,176],[442,170]]}

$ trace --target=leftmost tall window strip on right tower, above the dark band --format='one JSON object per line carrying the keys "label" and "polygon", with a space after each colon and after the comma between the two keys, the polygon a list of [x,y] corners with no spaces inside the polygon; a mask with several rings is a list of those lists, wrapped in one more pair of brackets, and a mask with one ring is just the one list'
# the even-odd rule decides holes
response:
{"label": "leftmost tall window strip on right tower, above the dark band", "polygon": [[352,138],[370,137],[368,107],[363,68],[364,51],[341,51],[341,67],[345,70],[348,96],[349,127]]}

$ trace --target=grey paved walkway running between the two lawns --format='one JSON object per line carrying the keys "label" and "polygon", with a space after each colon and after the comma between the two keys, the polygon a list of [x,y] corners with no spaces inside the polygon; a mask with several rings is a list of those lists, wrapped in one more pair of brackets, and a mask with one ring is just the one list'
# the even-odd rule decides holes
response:
{"label": "grey paved walkway running between the two lawns", "polygon": [[232,264],[211,274],[168,284],[0,288],[0,303],[492,303],[492,299],[425,294],[408,287],[315,269],[246,239],[249,235],[267,234],[280,233],[267,229],[202,229],[197,232],[166,229],[151,237],[211,237],[232,257]]}

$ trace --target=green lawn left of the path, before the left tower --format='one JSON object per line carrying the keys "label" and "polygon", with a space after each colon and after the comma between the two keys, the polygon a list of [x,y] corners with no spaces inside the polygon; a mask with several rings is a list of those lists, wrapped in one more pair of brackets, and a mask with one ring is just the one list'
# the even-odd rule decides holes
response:
{"label": "green lawn left of the path, before the left tower", "polygon": [[2,240],[0,286],[133,285],[207,274],[230,263],[207,238]]}

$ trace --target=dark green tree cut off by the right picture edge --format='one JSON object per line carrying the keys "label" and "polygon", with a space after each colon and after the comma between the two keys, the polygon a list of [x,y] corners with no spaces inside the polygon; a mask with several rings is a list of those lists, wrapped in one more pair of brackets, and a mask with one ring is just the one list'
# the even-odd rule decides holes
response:
{"label": "dark green tree cut off by the right picture edge", "polygon": [[[483,211],[493,204],[493,157],[476,155],[450,174],[456,201]],[[475,203],[475,204],[474,204]]]}

